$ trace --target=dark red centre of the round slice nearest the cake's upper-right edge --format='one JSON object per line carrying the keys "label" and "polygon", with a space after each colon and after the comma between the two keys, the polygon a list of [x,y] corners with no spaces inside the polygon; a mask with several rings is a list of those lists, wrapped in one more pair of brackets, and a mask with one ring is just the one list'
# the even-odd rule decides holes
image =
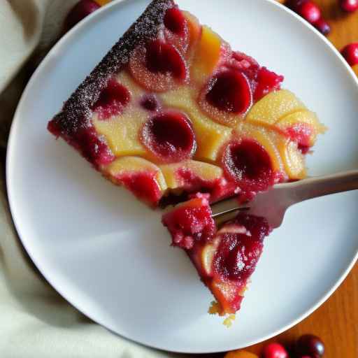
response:
{"label": "dark red centre of the round slice nearest the cake's upper-right edge", "polygon": [[252,103],[248,79],[240,71],[223,71],[210,80],[206,100],[219,110],[245,113]]}

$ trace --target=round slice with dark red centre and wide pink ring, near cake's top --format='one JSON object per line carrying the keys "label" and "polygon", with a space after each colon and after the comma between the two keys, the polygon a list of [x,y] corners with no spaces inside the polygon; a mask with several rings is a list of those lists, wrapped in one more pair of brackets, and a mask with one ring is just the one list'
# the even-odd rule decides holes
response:
{"label": "round slice with dark red centre and wide pink ring, near cake's top", "polygon": [[129,59],[129,69],[146,90],[165,92],[185,83],[187,63],[172,43],[162,39],[139,45]]}

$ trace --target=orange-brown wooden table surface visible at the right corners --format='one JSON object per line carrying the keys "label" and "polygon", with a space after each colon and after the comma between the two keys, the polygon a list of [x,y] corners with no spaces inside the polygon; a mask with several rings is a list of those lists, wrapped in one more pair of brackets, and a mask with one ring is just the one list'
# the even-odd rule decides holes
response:
{"label": "orange-brown wooden table surface visible at the right corners", "polygon": [[[358,42],[358,10],[345,14],[338,7],[338,0],[316,0],[316,3],[331,24],[332,31],[328,38],[339,50],[347,43]],[[272,341],[290,343],[306,333],[316,334],[323,339],[327,351],[324,358],[358,358],[358,264],[341,287],[315,313]],[[248,350],[258,353],[262,345]]]}

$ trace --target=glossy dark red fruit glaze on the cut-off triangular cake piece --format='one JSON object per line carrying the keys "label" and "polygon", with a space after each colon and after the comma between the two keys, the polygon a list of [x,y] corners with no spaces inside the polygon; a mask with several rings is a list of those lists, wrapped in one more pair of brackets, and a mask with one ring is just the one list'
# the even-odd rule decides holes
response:
{"label": "glossy dark red fruit glaze on the cut-off triangular cake piece", "polygon": [[270,228],[263,217],[251,215],[238,215],[231,223],[242,226],[243,233],[221,234],[222,240],[213,260],[214,272],[222,279],[246,282],[255,271]]}

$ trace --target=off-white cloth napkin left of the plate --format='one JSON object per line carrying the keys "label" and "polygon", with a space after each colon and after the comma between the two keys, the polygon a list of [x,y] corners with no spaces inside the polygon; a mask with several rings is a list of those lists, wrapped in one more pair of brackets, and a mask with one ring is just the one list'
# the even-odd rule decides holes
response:
{"label": "off-white cloth napkin left of the plate", "polygon": [[4,180],[9,124],[31,71],[76,1],[0,0],[0,357],[183,357],[127,341],[84,317],[45,282],[15,234]]}

